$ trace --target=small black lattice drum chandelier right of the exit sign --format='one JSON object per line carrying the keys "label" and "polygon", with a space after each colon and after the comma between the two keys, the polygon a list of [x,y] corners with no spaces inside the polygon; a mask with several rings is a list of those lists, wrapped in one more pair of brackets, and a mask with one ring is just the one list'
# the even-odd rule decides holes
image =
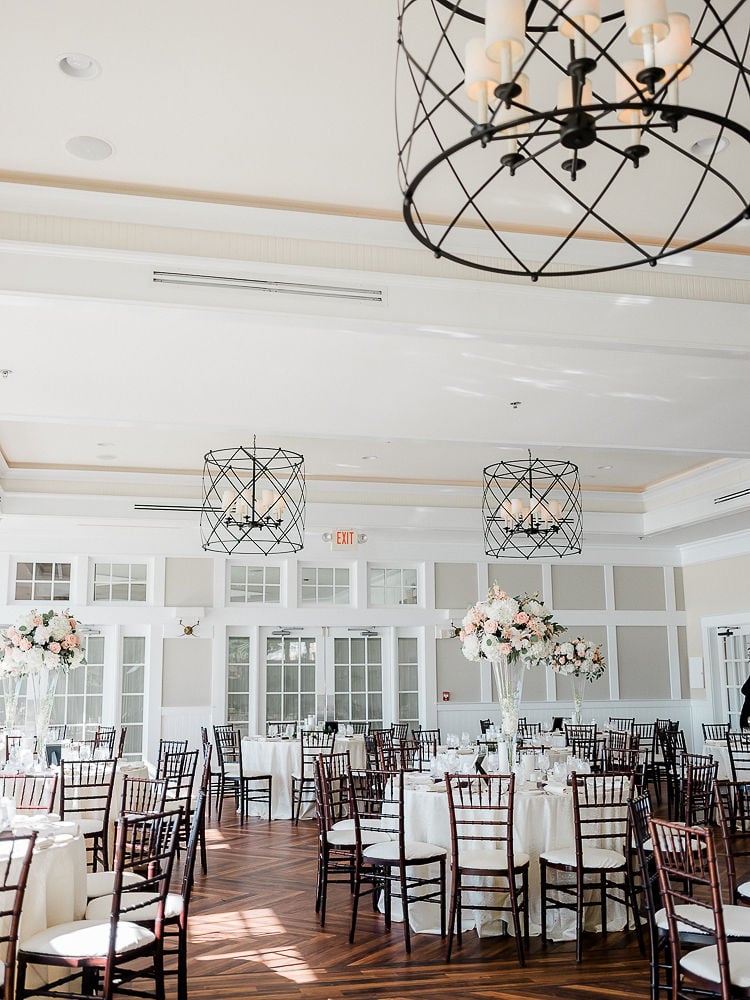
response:
{"label": "small black lattice drum chandelier right of the exit sign", "polygon": [[581,483],[572,462],[532,458],[484,470],[484,551],[505,559],[578,555]]}

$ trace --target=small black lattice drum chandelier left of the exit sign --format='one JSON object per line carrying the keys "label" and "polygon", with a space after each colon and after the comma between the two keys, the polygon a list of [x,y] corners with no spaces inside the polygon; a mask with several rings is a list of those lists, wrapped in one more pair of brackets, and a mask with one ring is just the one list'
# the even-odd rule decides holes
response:
{"label": "small black lattice drum chandelier left of the exit sign", "polygon": [[304,458],[284,448],[221,448],[204,456],[201,540],[207,552],[269,555],[304,544]]}

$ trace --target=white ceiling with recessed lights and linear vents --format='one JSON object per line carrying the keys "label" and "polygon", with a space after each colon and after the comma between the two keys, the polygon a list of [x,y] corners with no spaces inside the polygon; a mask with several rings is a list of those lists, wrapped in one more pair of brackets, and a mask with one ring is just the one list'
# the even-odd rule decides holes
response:
{"label": "white ceiling with recessed lights and linear vents", "polygon": [[[354,6],[0,5],[4,489],[85,471],[95,492],[122,470],[194,495],[206,450],[257,434],[302,451],[321,496],[361,479],[465,505],[484,465],[532,448],[579,464],[587,506],[606,491],[632,509],[749,459],[750,227],[733,254],[585,284],[433,261],[399,221],[395,4]],[[101,75],[64,76],[69,52]],[[76,159],[74,135],[114,155]],[[154,270],[383,295],[171,288]]]}

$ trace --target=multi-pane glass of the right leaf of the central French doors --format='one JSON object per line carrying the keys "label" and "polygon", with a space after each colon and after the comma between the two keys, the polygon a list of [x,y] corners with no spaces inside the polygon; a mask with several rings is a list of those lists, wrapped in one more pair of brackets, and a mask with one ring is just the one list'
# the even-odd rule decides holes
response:
{"label": "multi-pane glass of the right leaf of the central French doors", "polygon": [[383,643],[380,636],[333,640],[334,706],[342,721],[383,725]]}

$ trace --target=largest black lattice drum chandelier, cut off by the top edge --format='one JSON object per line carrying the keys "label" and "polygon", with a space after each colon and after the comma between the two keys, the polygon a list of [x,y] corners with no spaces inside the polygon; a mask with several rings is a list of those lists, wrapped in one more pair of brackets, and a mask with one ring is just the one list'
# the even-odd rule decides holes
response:
{"label": "largest black lattice drum chandelier, cut off by the top edge", "polygon": [[399,0],[414,236],[536,281],[654,265],[749,218],[750,3],[666,2]]}

